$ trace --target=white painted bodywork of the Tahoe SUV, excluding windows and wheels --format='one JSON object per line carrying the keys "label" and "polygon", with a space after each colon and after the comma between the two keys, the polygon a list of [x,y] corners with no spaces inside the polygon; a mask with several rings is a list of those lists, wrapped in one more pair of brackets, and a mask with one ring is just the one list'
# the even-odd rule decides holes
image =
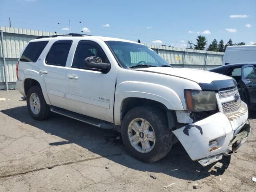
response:
{"label": "white painted bodywork of the Tahoe SUV, excluding windows and wheels", "polygon": [[[97,36],[57,37],[32,40],[48,40],[46,48],[36,63],[19,63],[18,90],[24,95],[24,80],[32,78],[40,83],[47,104],[78,112],[87,116],[114,122],[121,125],[121,110],[127,98],[145,98],[162,103],[169,110],[175,110],[178,122],[200,126],[202,134],[196,127],[184,134],[186,127],[174,130],[192,160],[209,158],[203,163],[218,159],[219,154],[229,150],[229,142],[234,134],[242,128],[248,118],[246,104],[242,102],[241,113],[237,118],[229,120],[223,114],[221,102],[234,99],[219,99],[216,94],[220,112],[192,124],[192,119],[186,111],[184,89],[201,90],[198,83],[211,83],[213,80],[231,79],[228,76],[193,69],[180,68],[136,68],[134,70],[121,68],[104,41],[120,40]],[[46,55],[57,40],[72,40],[66,66],[51,66],[45,63]],[[92,70],[71,68],[76,46],[80,40],[97,42],[105,52],[111,64],[107,74]],[[121,40],[131,42],[128,40]],[[136,42],[133,42],[136,43]],[[47,73],[40,73],[45,71]],[[68,78],[68,77],[77,78]],[[243,115],[241,115],[243,114]],[[217,140],[219,148],[208,151],[209,141]]]}

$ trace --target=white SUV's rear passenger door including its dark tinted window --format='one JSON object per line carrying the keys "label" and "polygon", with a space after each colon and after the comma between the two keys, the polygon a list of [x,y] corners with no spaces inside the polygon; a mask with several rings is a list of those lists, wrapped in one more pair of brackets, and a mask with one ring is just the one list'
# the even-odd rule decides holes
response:
{"label": "white SUV's rear passenger door including its dark tinted window", "polygon": [[54,42],[47,53],[44,65],[40,69],[51,104],[64,109],[67,109],[65,100],[65,66],[71,45],[72,40]]}

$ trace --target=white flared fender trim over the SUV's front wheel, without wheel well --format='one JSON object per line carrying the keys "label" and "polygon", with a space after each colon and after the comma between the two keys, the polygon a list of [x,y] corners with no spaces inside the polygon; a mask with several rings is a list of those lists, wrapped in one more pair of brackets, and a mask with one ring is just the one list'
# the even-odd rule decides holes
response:
{"label": "white flared fender trim over the SUV's front wheel, without wheel well", "polygon": [[120,111],[126,98],[137,97],[160,102],[169,110],[184,110],[179,96],[172,89],[154,83],[126,81],[116,86],[114,118],[115,124],[121,124]]}

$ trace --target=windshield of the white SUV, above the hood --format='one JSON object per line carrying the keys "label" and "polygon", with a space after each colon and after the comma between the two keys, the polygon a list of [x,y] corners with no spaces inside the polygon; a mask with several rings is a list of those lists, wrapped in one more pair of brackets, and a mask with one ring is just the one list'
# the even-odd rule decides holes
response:
{"label": "windshield of the white SUV, above the hood", "polygon": [[106,43],[123,68],[171,67],[168,62],[145,45],[122,41],[106,41]]}

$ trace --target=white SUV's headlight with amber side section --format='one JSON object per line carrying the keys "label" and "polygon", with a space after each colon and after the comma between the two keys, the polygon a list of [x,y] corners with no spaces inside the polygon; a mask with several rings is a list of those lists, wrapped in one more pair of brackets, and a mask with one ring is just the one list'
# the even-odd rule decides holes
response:
{"label": "white SUV's headlight with amber side section", "polygon": [[190,111],[211,111],[217,109],[214,91],[184,90],[187,109]]}

